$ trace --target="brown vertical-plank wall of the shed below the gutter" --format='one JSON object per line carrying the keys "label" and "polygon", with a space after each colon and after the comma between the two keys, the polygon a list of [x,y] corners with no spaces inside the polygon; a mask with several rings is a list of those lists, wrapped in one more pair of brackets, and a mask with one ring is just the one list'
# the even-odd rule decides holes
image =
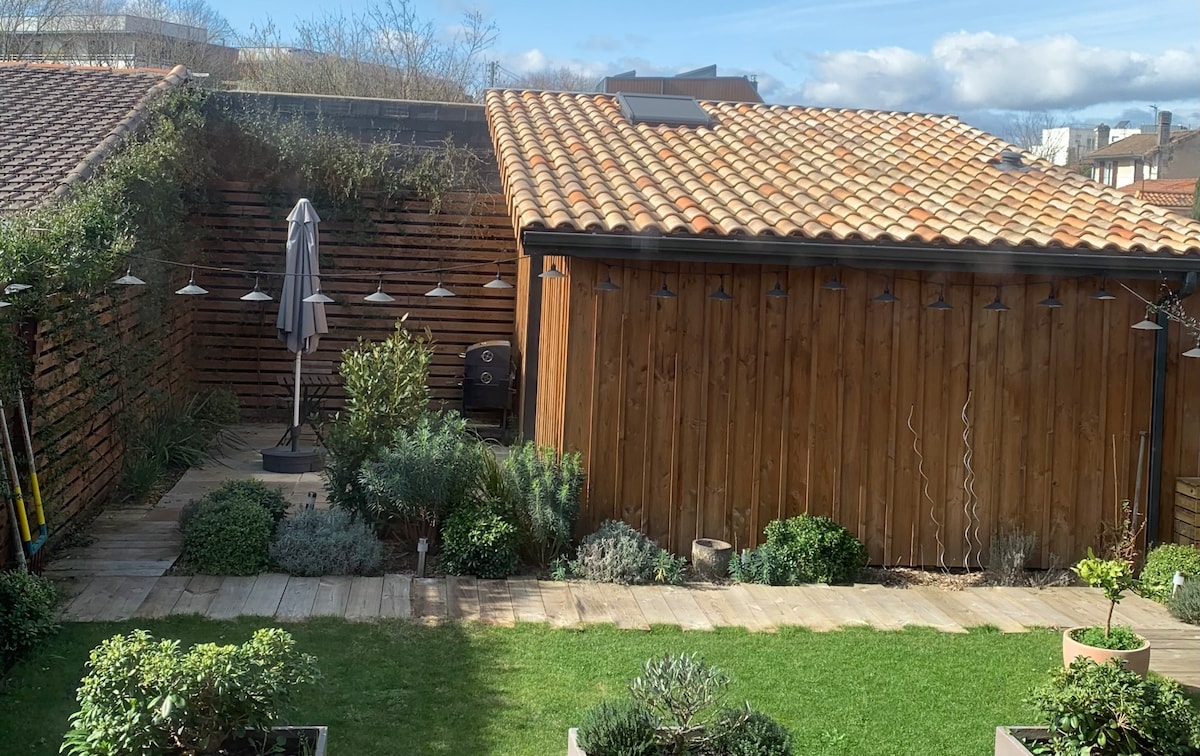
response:
{"label": "brown vertical-plank wall of the shed below the gutter", "polygon": [[[545,287],[544,320],[565,317],[566,290],[570,318],[542,325],[544,354],[566,349],[566,366],[565,395],[539,403],[560,403],[562,420],[539,415],[539,437],[584,455],[581,533],[618,517],[686,553],[697,536],[749,546],[770,520],[814,512],[857,533],[874,563],[962,566],[986,562],[991,533],[1014,522],[1049,565],[1097,544],[1115,485],[1133,497],[1153,335],[1129,328],[1144,305],[1112,281],[1108,302],[1090,299],[1096,280],[1061,281],[1066,306],[1051,310],[1037,304],[1044,278],[841,270],[834,292],[821,286],[832,270],[797,268],[782,272],[791,295],[770,299],[774,270],[656,270],[678,298],[650,296],[661,272],[616,263],[622,289],[596,293],[604,264],[578,259]],[[721,274],[732,302],[707,298]],[[872,301],[884,284],[899,302]],[[928,310],[943,284],[954,308]],[[1008,312],[983,310],[996,284]],[[1165,481],[1200,466],[1189,346],[1172,326]],[[1163,506],[1169,523],[1169,496]]]}

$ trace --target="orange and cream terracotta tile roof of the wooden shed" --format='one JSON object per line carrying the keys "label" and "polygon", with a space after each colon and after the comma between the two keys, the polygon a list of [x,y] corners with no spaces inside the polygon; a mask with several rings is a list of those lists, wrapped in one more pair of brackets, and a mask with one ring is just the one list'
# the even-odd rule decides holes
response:
{"label": "orange and cream terracotta tile roof of the wooden shed", "polygon": [[487,92],[515,228],[1200,254],[1200,224],[1048,163],[1000,170],[1010,145],[953,116],[701,104],[714,127]]}

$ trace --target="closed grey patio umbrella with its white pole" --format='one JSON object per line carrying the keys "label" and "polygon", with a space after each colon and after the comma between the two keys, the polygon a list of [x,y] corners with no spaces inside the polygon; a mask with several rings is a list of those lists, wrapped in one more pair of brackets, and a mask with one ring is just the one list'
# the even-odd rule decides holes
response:
{"label": "closed grey patio umbrella with its white pole", "polygon": [[283,294],[280,296],[280,317],[275,322],[280,340],[296,355],[292,409],[293,451],[300,445],[300,355],[313,353],[320,334],[329,332],[325,305],[304,301],[320,290],[318,223],[320,216],[307,199],[300,199],[288,215]]}

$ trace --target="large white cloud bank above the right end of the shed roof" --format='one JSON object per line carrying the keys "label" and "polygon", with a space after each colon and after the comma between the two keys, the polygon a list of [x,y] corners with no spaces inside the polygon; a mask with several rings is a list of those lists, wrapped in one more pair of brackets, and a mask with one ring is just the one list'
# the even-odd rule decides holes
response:
{"label": "large white cloud bank above the right end of the shed roof", "polygon": [[1070,109],[1190,100],[1200,53],[1146,55],[1087,47],[1072,36],[1016,40],[990,32],[940,37],[930,53],[888,47],[812,56],[808,104],[913,110]]}

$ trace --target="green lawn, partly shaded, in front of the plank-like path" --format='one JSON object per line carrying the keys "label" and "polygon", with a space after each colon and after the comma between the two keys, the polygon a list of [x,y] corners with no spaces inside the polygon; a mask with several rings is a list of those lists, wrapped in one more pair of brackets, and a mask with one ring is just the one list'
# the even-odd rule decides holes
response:
{"label": "green lawn, partly shaded, in front of the plank-like path", "polygon": [[[0,688],[0,750],[22,743],[28,756],[58,752],[88,652],[104,637],[145,628],[185,642],[241,642],[264,624],[65,625]],[[642,661],[665,652],[698,652],[728,671],[734,696],[787,725],[798,754],[986,754],[996,725],[1030,721],[1022,698],[1061,648],[1048,631],[286,626],[324,674],[294,724],[329,725],[334,756],[565,754],[566,728],[582,712],[620,695]]]}

